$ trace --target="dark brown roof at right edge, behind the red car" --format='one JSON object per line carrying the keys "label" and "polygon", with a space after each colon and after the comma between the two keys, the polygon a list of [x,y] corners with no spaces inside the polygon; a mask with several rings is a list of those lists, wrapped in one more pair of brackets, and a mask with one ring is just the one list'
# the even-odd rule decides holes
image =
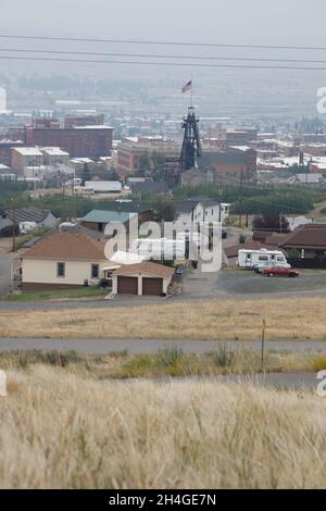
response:
{"label": "dark brown roof at right edge, behind the red car", "polygon": [[326,224],[300,225],[285,238],[280,247],[326,250]]}

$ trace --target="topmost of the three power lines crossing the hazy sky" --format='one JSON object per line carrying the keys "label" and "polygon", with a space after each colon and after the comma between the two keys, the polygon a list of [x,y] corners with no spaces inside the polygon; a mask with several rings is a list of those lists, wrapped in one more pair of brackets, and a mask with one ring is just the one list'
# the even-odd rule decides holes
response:
{"label": "topmost of the three power lines crossing the hazy sky", "polygon": [[72,41],[72,42],[110,42],[118,45],[156,45],[156,46],[184,46],[201,48],[251,48],[268,50],[312,50],[325,51],[326,47],[318,46],[280,46],[280,45],[235,45],[224,42],[190,42],[190,41],[162,41],[162,40],[139,40],[139,39],[97,39],[85,37],[51,37],[51,36],[27,36],[0,34],[1,39],[30,39],[30,40],[51,40],[51,41]]}

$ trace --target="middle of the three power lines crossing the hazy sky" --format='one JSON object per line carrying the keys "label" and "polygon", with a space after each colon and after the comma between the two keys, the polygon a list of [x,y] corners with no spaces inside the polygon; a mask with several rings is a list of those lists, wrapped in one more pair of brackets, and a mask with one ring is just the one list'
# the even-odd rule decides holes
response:
{"label": "middle of the three power lines crossing the hazy sky", "polygon": [[26,48],[0,48],[0,51],[17,52],[17,53],[46,53],[46,54],[64,54],[64,55],[93,55],[93,57],[128,57],[143,59],[188,59],[188,60],[205,60],[205,61],[241,61],[241,62],[288,62],[288,63],[305,63],[305,64],[326,64],[326,60],[312,59],[265,59],[252,57],[203,57],[203,55],[166,55],[166,54],[148,54],[148,53],[112,53],[98,51],[65,51],[65,50],[35,50]]}

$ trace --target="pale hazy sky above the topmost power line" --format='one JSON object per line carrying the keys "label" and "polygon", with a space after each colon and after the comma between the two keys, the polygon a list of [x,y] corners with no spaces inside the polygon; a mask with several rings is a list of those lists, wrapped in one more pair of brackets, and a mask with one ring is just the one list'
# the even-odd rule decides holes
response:
{"label": "pale hazy sky above the topmost power line", "polygon": [[0,0],[0,32],[322,45],[325,14],[325,0]]}

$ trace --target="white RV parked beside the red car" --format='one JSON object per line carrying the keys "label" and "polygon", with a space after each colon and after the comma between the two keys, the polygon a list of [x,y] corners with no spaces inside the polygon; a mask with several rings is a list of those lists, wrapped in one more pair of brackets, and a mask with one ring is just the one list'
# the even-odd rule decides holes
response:
{"label": "white RV parked beside the red car", "polygon": [[271,267],[271,266],[291,267],[280,250],[242,250],[238,251],[239,267]]}

